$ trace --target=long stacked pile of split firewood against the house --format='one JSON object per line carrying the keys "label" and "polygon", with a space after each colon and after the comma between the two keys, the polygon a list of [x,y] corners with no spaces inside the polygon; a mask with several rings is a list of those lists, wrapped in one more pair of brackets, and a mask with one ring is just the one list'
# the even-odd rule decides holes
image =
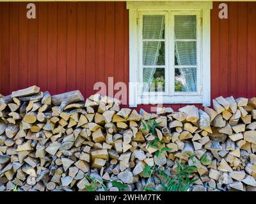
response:
{"label": "long stacked pile of split firewood against the house", "polygon": [[[148,180],[145,166],[175,177],[177,161],[196,166],[190,191],[256,191],[256,98],[220,96],[212,106],[138,113],[79,91],[0,94],[0,191],[86,191],[84,175],[121,181],[125,191],[161,191],[161,177]],[[155,134],[144,127],[149,120]],[[156,140],[169,150],[156,156]]]}

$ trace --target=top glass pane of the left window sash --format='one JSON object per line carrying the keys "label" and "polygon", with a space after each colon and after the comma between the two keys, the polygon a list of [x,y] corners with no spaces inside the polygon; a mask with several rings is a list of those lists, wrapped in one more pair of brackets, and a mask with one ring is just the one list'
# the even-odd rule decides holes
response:
{"label": "top glass pane of the left window sash", "polygon": [[143,39],[164,39],[164,15],[143,15]]}

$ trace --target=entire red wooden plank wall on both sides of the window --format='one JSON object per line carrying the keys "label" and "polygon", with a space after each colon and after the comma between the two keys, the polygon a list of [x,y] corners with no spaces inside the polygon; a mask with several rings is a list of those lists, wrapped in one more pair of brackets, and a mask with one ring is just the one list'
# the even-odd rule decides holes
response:
{"label": "entire red wooden plank wall on both sides of the window", "polygon": [[[35,4],[36,19],[28,19],[26,3],[0,3],[2,94],[36,84],[88,97],[108,77],[128,83],[125,3]],[[211,12],[211,96],[256,96],[256,3],[227,3],[228,19],[218,18],[218,4]]]}

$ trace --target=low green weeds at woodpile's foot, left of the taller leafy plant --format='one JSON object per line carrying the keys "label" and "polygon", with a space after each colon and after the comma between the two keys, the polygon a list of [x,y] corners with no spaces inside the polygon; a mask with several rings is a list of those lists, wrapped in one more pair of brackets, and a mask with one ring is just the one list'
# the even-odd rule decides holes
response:
{"label": "low green weeds at woodpile's foot, left of the taller leafy plant", "polygon": [[[104,191],[108,191],[108,187],[105,186],[104,182],[109,182],[109,180],[102,179],[102,181],[100,181],[99,179],[88,175],[85,175],[85,178],[90,182],[90,185],[85,184],[87,191],[97,191],[100,187],[102,187]],[[111,180],[110,182],[114,187],[117,187],[119,191],[124,191],[125,188],[129,187],[127,184],[122,184],[122,182],[117,180]]]}

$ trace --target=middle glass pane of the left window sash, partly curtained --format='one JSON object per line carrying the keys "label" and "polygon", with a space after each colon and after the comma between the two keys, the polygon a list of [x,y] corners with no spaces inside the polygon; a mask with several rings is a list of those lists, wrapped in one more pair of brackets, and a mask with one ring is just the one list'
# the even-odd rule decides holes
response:
{"label": "middle glass pane of the left window sash, partly curtained", "polygon": [[143,41],[143,65],[164,65],[164,41]]}

